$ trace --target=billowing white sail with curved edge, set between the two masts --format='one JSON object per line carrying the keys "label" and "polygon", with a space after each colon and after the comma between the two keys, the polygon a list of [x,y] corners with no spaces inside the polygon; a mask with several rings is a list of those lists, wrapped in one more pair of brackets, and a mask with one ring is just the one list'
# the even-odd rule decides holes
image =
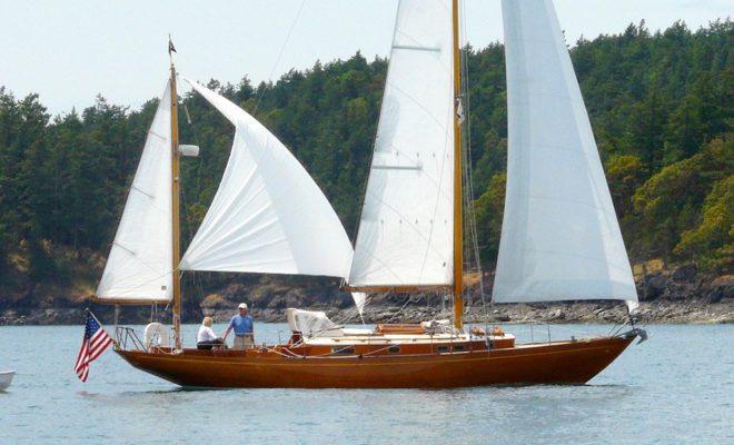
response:
{"label": "billowing white sail with curved edge, set between the two masts", "polygon": [[304,167],[241,108],[187,81],[236,132],[219,189],[181,269],[346,277],[351,244]]}

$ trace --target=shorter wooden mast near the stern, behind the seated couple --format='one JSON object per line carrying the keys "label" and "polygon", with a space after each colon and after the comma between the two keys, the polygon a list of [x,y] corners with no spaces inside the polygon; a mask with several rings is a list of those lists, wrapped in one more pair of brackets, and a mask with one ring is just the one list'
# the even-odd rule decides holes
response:
{"label": "shorter wooden mast near the stern, behind the seated couple", "polygon": [[168,55],[171,59],[171,179],[172,179],[172,222],[173,222],[173,338],[176,349],[181,349],[181,281],[178,264],[180,260],[179,247],[179,167],[178,167],[178,97],[176,92],[176,67],[173,67],[173,43],[168,44]]}

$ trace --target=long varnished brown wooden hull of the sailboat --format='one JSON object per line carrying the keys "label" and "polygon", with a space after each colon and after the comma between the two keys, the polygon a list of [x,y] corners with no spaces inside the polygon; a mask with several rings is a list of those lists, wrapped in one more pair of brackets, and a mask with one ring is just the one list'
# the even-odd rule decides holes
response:
{"label": "long varnished brown wooden hull of the sailboat", "polygon": [[584,384],[635,335],[519,345],[505,349],[393,356],[285,357],[186,349],[181,354],[117,350],[132,366],[191,387],[450,388],[484,385]]}

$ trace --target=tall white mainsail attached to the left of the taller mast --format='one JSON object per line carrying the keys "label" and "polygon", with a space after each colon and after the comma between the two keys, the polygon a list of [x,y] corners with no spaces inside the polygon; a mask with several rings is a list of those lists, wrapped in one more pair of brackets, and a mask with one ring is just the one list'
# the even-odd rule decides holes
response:
{"label": "tall white mainsail attached to the left of the taller mast", "polygon": [[349,285],[453,283],[452,2],[399,3]]}

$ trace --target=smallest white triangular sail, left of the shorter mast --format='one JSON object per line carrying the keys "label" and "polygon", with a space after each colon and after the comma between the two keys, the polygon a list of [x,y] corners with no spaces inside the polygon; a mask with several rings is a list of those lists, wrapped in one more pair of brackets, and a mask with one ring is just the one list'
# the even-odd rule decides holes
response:
{"label": "smallest white triangular sail, left of the shorter mast", "polygon": [[160,99],[96,299],[172,298],[171,89]]}

